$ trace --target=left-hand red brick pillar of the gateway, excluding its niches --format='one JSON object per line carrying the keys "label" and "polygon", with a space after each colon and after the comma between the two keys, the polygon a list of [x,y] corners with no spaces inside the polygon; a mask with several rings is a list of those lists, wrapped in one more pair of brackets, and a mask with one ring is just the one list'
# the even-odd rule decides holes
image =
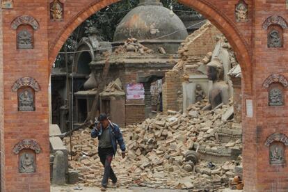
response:
{"label": "left-hand red brick pillar of the gateway, excluding its niches", "polygon": [[[13,9],[1,9],[1,13],[1,191],[50,191],[48,1],[14,1]],[[25,21],[19,26],[17,23],[17,29],[13,29],[13,20],[23,15],[33,17],[39,24],[38,28],[33,29],[33,26],[25,24]],[[22,27],[29,27],[29,30],[33,31],[33,49],[17,49],[16,33],[17,30],[22,30]],[[18,111],[17,92],[14,92],[12,87],[15,81],[22,77],[31,77],[39,83],[40,90],[35,91],[35,111]],[[19,171],[21,152],[16,154],[13,147],[24,139],[37,142],[41,149],[40,153],[35,153],[35,173]]]}

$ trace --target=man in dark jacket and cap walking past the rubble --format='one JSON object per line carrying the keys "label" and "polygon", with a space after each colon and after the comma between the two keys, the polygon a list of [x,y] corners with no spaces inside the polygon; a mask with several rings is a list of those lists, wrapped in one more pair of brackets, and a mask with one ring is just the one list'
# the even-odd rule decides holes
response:
{"label": "man in dark jacket and cap walking past the rubble", "polygon": [[117,152],[117,143],[120,145],[122,158],[125,158],[126,147],[118,125],[111,122],[104,113],[100,114],[97,120],[98,122],[91,131],[91,137],[99,139],[98,154],[104,166],[101,191],[106,191],[109,178],[113,186],[117,186],[117,177],[111,168],[111,161]]}

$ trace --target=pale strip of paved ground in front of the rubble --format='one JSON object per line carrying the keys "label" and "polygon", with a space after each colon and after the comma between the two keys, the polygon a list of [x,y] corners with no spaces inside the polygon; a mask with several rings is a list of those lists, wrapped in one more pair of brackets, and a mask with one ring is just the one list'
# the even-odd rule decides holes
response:
{"label": "pale strip of paved ground in front of the rubble", "polygon": [[[51,192],[99,192],[97,187],[88,186],[51,186]],[[187,192],[187,190],[170,190],[170,189],[150,189],[144,187],[131,187],[129,189],[107,189],[108,192]],[[223,192],[241,192],[241,190],[225,189]]]}

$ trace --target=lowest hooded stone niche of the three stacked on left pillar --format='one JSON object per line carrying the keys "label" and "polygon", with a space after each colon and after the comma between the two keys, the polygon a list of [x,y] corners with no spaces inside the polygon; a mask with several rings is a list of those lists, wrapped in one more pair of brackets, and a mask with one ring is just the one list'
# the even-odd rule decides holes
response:
{"label": "lowest hooded stone niche of the three stacked on left pillar", "polygon": [[40,145],[31,139],[24,139],[13,147],[13,153],[18,154],[19,173],[36,172],[36,154],[41,152]]}

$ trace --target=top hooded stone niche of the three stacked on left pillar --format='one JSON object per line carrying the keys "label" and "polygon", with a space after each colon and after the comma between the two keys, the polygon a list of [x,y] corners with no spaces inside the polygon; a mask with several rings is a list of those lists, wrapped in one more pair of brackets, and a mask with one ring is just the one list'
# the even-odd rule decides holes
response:
{"label": "top hooded stone niche of the three stacked on left pillar", "polygon": [[11,28],[16,30],[17,49],[33,49],[34,31],[39,29],[39,24],[33,17],[22,15],[11,23]]}

